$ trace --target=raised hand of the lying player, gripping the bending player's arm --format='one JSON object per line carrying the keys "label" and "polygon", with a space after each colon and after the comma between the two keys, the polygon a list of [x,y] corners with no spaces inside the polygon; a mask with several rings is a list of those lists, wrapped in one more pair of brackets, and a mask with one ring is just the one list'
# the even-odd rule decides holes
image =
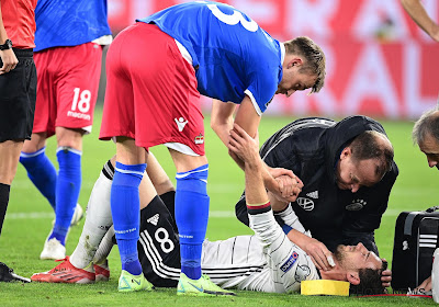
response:
{"label": "raised hand of the lying player, gripping the bending player's arm", "polygon": [[258,139],[250,137],[237,124],[234,124],[234,128],[230,130],[228,149],[245,163],[257,164],[260,161]]}

